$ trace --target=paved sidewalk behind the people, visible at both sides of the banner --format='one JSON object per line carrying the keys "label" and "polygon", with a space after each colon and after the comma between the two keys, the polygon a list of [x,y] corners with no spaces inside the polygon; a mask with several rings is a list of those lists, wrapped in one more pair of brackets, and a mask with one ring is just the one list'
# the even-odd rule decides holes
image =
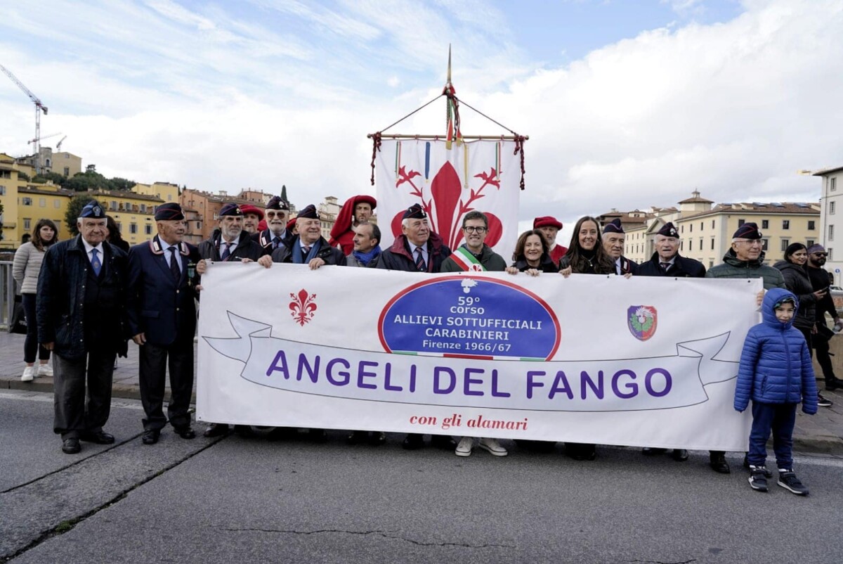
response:
{"label": "paved sidewalk behind the people, visible at both sides of the banner", "polygon": [[[831,352],[836,359],[843,358],[843,339],[832,341]],[[24,335],[0,331],[0,389],[33,390],[52,392],[51,377],[36,377],[33,382],[21,382],[24,371]],[[194,360],[194,362],[196,362]],[[814,363],[814,371],[819,366]],[[821,372],[818,372],[821,373]],[[843,375],[843,368],[839,375]],[[168,381],[169,382],[169,381]],[[818,382],[822,392],[823,383]],[[803,415],[797,412],[796,429],[793,431],[793,450],[801,453],[835,454],[843,456],[843,393],[822,392],[825,398],[834,402],[831,407],[821,407],[817,415]],[[114,372],[113,396],[115,398],[140,399],[137,382],[137,346],[129,343],[129,357],[117,362]],[[166,399],[169,400],[169,386]],[[193,401],[196,403],[196,380],[193,383]]]}

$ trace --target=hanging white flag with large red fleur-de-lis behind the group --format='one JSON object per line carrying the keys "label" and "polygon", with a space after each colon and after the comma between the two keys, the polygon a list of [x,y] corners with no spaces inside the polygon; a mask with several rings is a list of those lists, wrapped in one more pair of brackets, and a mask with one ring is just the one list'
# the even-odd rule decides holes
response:
{"label": "hanging white flag with large red fleur-de-lis behind the group", "polygon": [[452,251],[464,243],[470,211],[489,219],[486,244],[507,263],[518,239],[520,155],[515,142],[478,139],[445,148],[444,139],[384,139],[377,160],[381,248],[401,234],[405,210],[420,203],[431,229]]}

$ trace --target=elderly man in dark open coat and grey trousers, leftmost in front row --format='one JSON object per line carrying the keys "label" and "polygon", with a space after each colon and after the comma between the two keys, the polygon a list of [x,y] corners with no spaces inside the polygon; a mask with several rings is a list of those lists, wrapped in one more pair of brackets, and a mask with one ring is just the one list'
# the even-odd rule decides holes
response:
{"label": "elderly man in dark open coat and grey trousers, leftmost in front row", "polygon": [[[55,364],[55,421],[62,451],[79,440],[110,444],[103,431],[111,405],[115,356],[126,356],[126,253],[105,241],[105,211],[88,203],[79,235],[47,251],[38,279],[38,340]],[[85,383],[88,383],[87,402]]]}

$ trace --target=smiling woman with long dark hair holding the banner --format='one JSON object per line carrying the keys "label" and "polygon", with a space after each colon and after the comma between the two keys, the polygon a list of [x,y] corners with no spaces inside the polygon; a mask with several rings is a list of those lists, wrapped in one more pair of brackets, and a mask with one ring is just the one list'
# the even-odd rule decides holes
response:
{"label": "smiling woman with long dark hair holding the banner", "polygon": [[[615,261],[604,251],[597,220],[586,215],[574,225],[568,252],[559,261],[562,276],[571,274],[615,274]],[[596,445],[566,442],[565,453],[574,460],[597,458]]]}

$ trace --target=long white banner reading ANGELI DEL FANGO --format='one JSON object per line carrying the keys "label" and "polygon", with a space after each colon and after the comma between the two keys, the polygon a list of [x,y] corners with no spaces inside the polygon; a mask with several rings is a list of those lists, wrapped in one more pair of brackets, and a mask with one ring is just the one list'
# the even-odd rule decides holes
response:
{"label": "long white banner reading ANGELI DEL FANGO", "polygon": [[746,448],[760,279],[214,263],[202,284],[201,420]]}

